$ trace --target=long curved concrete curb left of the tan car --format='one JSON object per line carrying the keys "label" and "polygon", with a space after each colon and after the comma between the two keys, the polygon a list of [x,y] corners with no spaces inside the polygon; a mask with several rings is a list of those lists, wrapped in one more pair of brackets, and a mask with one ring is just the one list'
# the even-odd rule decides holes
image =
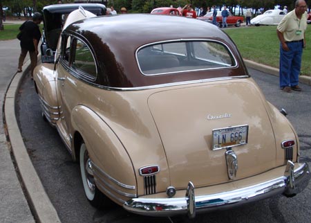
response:
{"label": "long curved concrete curb left of the tan car", "polygon": [[15,117],[15,96],[19,90],[23,76],[26,75],[26,71],[29,70],[29,66],[30,60],[23,64],[23,67],[27,67],[27,69],[21,75],[16,73],[8,87],[4,105],[6,126],[21,181],[26,190],[28,202],[30,202],[30,209],[35,215],[35,219],[42,223],[56,223],[61,221],[32,165]]}

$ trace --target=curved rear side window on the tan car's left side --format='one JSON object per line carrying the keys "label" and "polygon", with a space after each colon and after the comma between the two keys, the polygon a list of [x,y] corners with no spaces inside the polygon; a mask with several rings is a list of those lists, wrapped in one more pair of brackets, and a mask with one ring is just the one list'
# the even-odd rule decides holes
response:
{"label": "curved rear side window on the tan car's left side", "polygon": [[71,67],[86,78],[95,80],[97,77],[97,67],[91,49],[80,39],[74,39],[71,46],[74,47],[74,59]]}

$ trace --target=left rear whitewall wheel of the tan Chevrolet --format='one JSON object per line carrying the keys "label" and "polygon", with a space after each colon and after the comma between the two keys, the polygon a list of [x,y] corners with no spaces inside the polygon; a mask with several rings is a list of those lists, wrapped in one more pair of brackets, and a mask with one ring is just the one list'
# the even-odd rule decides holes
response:
{"label": "left rear whitewall wheel of the tan Chevrolet", "polygon": [[108,198],[103,195],[102,192],[100,192],[100,190],[98,190],[97,186],[95,185],[91,159],[88,156],[88,150],[86,150],[86,145],[84,142],[82,142],[80,145],[79,165],[81,170],[84,193],[86,195],[86,198],[88,199],[88,202],[90,202],[91,205],[95,208],[103,207],[105,201]]}

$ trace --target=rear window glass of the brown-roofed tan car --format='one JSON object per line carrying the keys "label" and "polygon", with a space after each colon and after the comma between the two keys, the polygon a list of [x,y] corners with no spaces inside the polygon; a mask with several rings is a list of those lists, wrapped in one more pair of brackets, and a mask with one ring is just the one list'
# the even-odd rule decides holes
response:
{"label": "rear window glass of the brown-roofed tan car", "polygon": [[138,49],[138,66],[144,75],[160,75],[236,66],[229,48],[214,41],[151,44]]}

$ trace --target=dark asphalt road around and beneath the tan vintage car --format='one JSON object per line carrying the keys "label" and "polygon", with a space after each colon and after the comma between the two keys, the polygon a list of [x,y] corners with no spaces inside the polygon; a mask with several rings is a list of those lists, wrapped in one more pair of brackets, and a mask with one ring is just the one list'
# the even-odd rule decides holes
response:
{"label": "dark asphalt road around and beneath the tan vintage car", "polygon": [[[301,84],[301,93],[284,93],[278,89],[279,80],[275,76],[254,70],[250,70],[250,73],[263,89],[267,99],[279,109],[283,107],[288,111],[288,118],[301,139],[301,152],[309,157],[310,163],[311,87]],[[158,219],[132,215],[119,207],[98,211],[90,206],[83,194],[79,166],[71,161],[57,131],[42,120],[39,101],[29,78],[23,82],[19,93],[17,117],[32,162],[62,222],[189,222],[187,217],[183,216]],[[30,132],[30,129],[33,131]],[[191,222],[309,222],[310,197],[311,184],[303,193],[292,199],[277,196],[229,211],[198,215]]]}

